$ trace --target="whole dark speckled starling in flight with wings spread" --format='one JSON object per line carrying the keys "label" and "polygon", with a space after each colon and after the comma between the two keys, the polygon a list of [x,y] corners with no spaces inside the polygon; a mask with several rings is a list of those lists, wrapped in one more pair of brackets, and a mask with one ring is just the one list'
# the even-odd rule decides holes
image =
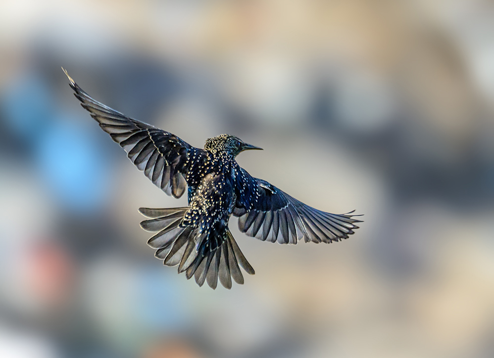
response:
{"label": "whole dark speckled starling in flight with wings spread", "polygon": [[[63,69],[63,68],[62,68]],[[274,185],[249,175],[235,157],[261,148],[222,134],[207,139],[204,149],[177,136],[129,118],[95,101],[63,70],[75,97],[99,126],[126,152],[130,160],[166,194],[180,198],[187,190],[189,206],[145,208],[141,227],[156,232],[148,245],[167,266],[178,265],[187,279],[215,289],[218,278],[230,289],[232,277],[244,283],[242,267],[253,275],[228,228],[231,215],[248,236],[280,244],[298,240],[331,243],[346,239],[360,222],[352,215],[331,214],[305,205]],[[240,266],[240,267],[239,267]]]}

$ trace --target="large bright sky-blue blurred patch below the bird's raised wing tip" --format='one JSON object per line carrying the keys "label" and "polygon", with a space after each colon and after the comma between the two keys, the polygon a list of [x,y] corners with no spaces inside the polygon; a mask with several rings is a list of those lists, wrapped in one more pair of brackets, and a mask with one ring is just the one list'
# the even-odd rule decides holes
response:
{"label": "large bright sky-blue blurred patch below the bird's raised wing tip", "polygon": [[55,118],[35,149],[35,160],[55,200],[78,213],[98,210],[107,198],[109,172],[94,134],[79,123]]}

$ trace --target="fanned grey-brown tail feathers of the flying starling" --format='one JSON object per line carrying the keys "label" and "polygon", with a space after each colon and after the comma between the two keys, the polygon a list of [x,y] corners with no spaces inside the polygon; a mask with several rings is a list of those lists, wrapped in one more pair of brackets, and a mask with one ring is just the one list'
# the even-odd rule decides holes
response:
{"label": "fanned grey-brown tail feathers of the flying starling", "polygon": [[[237,245],[227,227],[220,232],[211,232],[196,251],[198,230],[182,226],[182,220],[189,207],[152,209],[141,207],[139,212],[150,218],[141,222],[141,227],[157,232],[148,240],[148,245],[156,249],[155,256],[167,266],[178,265],[178,273],[186,272],[187,279],[195,277],[199,286],[205,281],[212,289],[221,284],[232,288],[232,277],[238,284],[244,283],[242,267],[253,275],[254,269]],[[239,267],[240,265],[240,267]]]}

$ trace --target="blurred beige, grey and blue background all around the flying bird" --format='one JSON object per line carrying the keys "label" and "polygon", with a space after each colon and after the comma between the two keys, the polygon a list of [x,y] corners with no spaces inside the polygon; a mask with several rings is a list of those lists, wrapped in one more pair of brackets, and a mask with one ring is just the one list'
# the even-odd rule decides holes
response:
{"label": "blurred beige, grey and blue background all around the flying bird", "polygon": [[[490,0],[0,2],[0,356],[494,357]],[[199,288],[137,209],[186,205],[73,97],[364,223],[332,245],[230,226],[255,276]],[[248,276],[248,275],[246,275]]]}

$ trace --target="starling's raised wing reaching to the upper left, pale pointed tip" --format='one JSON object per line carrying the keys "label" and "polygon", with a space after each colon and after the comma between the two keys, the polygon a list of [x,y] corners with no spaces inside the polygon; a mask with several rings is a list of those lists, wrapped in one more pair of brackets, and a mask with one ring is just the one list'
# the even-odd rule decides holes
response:
{"label": "starling's raised wing reaching to the upper left, pale pointed tip", "polygon": [[[63,68],[62,68],[63,69]],[[150,124],[129,118],[95,101],[68,75],[75,97],[126,152],[139,170],[166,194],[180,198],[194,178],[193,165],[200,165],[204,151],[192,147],[177,136]]]}

